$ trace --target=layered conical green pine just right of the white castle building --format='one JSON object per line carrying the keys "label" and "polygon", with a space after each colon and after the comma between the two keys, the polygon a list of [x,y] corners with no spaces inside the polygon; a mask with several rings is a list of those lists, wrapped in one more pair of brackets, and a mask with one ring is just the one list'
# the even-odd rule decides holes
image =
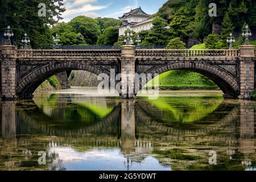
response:
{"label": "layered conical green pine just right of the white castle building", "polygon": [[142,46],[166,46],[170,40],[170,30],[166,27],[167,22],[160,17],[156,17],[152,24],[154,25],[148,35],[142,42]]}

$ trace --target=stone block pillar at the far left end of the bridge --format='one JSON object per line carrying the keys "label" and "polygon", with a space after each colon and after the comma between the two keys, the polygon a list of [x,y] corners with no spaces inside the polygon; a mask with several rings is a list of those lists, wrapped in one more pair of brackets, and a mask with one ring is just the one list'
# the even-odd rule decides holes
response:
{"label": "stone block pillar at the far left end of the bridge", "polygon": [[1,98],[16,99],[15,46],[1,46]]}

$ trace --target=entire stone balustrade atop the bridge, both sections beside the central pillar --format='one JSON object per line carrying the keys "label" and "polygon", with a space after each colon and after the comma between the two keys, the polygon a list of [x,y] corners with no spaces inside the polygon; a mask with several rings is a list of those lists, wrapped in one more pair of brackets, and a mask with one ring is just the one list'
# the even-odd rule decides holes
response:
{"label": "entire stone balustrade atop the bridge, both sections beside the central pillar", "polygon": [[[135,49],[137,57],[238,57],[238,49]],[[256,53],[255,53],[256,55]],[[119,49],[104,50],[16,50],[16,57],[121,57]]]}

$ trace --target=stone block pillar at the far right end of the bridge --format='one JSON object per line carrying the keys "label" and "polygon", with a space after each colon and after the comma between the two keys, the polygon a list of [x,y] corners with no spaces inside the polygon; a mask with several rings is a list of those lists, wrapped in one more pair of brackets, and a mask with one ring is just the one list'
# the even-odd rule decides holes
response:
{"label": "stone block pillar at the far right end of the bridge", "polygon": [[241,99],[250,99],[254,90],[254,57],[255,46],[243,45],[240,49],[240,96]]}

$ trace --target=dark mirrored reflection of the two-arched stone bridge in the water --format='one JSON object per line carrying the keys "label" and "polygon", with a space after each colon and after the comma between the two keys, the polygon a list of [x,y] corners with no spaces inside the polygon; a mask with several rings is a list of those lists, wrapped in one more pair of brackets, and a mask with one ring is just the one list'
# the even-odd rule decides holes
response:
{"label": "dark mirrored reflection of the two-arched stone bridge in the water", "polygon": [[[161,121],[158,118],[162,117],[162,113],[157,110],[144,110],[141,107],[144,104],[144,101],[141,100],[123,101],[115,106],[112,113],[101,119],[101,121],[91,123],[89,126],[81,124],[78,127],[68,128],[61,123],[57,123],[57,125],[56,123],[51,123],[51,116],[40,113],[41,111],[38,109],[27,113],[24,110],[16,110],[15,102],[3,102],[1,133],[4,138],[13,138],[17,134],[29,133],[64,138],[85,137],[90,141],[89,134],[92,135],[91,143],[112,143],[113,146],[120,146],[122,143],[126,148],[127,144],[132,144],[133,146],[138,141],[138,146],[145,146],[144,142],[161,142],[163,139],[168,140],[168,142],[220,141],[236,143],[239,142],[236,136],[237,126],[239,125],[237,121],[241,121],[240,139],[254,137],[254,109],[246,102],[241,102],[241,109],[239,109],[238,105],[225,107],[225,103],[223,103],[201,121],[189,124],[189,129],[182,128],[182,126],[172,126],[172,123]],[[67,101],[65,101],[65,105],[67,105]],[[219,119],[220,117],[221,119]],[[49,122],[42,124],[38,121],[38,118],[40,118],[40,121]],[[212,122],[205,126],[205,121]],[[201,127],[201,123],[203,127]],[[220,134],[218,134],[218,131],[220,131]],[[104,142],[102,137],[108,138],[108,140],[109,138],[111,139],[108,142]],[[95,140],[95,138],[98,140]],[[127,143],[127,141],[129,142]]]}

